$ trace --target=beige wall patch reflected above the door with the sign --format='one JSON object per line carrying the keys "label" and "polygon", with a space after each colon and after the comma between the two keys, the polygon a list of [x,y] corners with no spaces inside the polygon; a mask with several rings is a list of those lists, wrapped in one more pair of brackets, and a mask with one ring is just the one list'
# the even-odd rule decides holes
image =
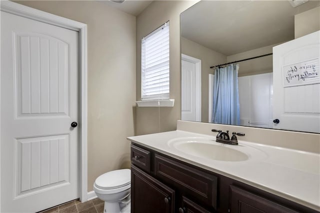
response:
{"label": "beige wall patch reflected above the door with the sign", "polygon": [[320,30],[320,6],[294,15],[294,38]]}

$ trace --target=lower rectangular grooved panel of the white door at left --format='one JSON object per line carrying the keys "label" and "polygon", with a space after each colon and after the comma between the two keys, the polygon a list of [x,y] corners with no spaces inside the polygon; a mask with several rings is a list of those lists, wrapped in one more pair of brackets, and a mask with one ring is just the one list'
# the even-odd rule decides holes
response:
{"label": "lower rectangular grooved panel of the white door at left", "polygon": [[35,188],[38,190],[52,184],[68,182],[68,134],[19,138],[16,143],[16,196],[34,191],[32,189]]}

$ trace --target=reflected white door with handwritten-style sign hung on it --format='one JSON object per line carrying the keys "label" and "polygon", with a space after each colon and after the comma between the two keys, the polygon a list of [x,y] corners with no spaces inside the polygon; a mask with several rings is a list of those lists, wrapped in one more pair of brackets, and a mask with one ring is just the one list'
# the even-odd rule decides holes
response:
{"label": "reflected white door with handwritten-style sign hung on it", "polygon": [[273,47],[274,128],[320,132],[319,31]]}

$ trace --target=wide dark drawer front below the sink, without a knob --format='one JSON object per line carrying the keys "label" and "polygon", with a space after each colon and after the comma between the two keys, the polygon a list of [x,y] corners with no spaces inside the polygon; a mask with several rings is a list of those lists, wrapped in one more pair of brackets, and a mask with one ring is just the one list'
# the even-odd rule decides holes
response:
{"label": "wide dark drawer front below the sink, without a knob", "polygon": [[217,177],[162,155],[154,155],[154,175],[186,196],[216,209]]}

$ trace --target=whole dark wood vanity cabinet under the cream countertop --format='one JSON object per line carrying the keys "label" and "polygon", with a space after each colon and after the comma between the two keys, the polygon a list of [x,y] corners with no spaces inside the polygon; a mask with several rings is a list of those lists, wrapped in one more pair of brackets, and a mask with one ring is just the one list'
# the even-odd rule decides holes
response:
{"label": "whole dark wood vanity cabinet under the cream countertop", "polygon": [[132,142],[131,212],[318,211]]}

